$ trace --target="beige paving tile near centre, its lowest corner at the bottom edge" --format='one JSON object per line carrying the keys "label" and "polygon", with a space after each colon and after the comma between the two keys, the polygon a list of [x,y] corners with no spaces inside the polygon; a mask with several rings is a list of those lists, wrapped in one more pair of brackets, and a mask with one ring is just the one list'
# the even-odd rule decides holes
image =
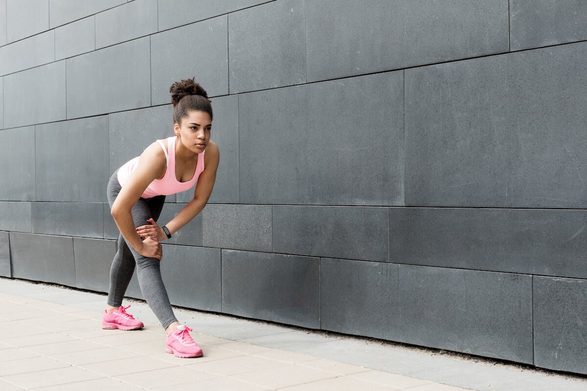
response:
{"label": "beige paving tile near centre, its lowest corner at the bottom edge", "polygon": [[231,376],[234,379],[254,383],[269,389],[295,386],[303,383],[315,382],[322,379],[331,379],[338,376],[333,372],[306,368],[299,365],[285,365],[271,370],[256,370],[255,372]]}

